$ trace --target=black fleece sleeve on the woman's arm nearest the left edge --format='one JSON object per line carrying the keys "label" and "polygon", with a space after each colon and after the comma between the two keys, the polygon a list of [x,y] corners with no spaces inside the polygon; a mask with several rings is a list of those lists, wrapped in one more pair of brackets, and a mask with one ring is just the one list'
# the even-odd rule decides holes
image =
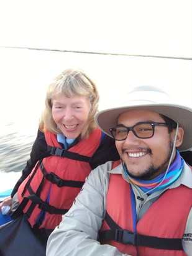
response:
{"label": "black fleece sleeve on the woman's arm nearest the left edge", "polygon": [[35,164],[39,160],[40,155],[42,155],[45,152],[47,152],[47,143],[45,140],[45,135],[43,132],[38,130],[37,137],[34,141],[34,144],[32,145],[32,150],[30,152],[30,158],[29,158],[29,160],[27,160],[25,168],[22,170],[22,176],[19,178],[16,185],[14,186],[14,189],[12,190],[11,197],[13,197],[14,194],[16,194],[22,181],[24,181],[25,178],[27,178],[27,176],[30,174],[30,172],[34,168]]}

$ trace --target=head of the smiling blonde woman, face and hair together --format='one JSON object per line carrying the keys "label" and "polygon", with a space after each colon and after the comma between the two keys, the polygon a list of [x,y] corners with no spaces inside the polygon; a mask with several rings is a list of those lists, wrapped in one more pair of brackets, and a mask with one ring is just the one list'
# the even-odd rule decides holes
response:
{"label": "head of the smiling blonde woman, face and hair together", "polygon": [[65,70],[47,89],[40,129],[43,130],[45,125],[50,132],[62,132],[70,139],[79,136],[87,139],[96,128],[94,115],[98,111],[98,102],[98,89],[86,73]]}

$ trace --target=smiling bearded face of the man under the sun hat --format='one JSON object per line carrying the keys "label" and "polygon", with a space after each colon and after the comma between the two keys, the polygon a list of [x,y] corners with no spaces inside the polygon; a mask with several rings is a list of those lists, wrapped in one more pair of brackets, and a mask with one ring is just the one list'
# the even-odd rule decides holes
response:
{"label": "smiling bearded face of the man under the sun hat", "polygon": [[[127,127],[135,126],[139,122],[165,121],[156,112],[145,110],[128,111],[121,114],[118,119],[118,124]],[[155,126],[153,137],[139,139],[130,131],[126,140],[116,140],[116,147],[130,175],[151,180],[167,169],[174,137],[175,130],[169,134],[168,127]]]}

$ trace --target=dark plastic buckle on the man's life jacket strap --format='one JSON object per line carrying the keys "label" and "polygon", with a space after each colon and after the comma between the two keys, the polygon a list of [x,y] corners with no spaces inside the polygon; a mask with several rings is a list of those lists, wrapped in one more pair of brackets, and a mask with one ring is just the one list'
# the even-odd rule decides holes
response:
{"label": "dark plastic buckle on the man's life jacket strap", "polygon": [[127,230],[116,229],[115,240],[122,244],[132,244],[137,246],[137,234]]}

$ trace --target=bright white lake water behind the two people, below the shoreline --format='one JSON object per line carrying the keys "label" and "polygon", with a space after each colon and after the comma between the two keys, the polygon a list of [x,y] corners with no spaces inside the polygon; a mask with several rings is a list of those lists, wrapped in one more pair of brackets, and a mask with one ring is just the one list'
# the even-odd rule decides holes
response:
{"label": "bright white lake water behind the two people, below the shoreline", "polygon": [[14,186],[37,134],[45,90],[65,68],[81,68],[96,81],[100,109],[126,101],[138,85],[166,89],[192,106],[192,60],[0,48],[0,191]]}

